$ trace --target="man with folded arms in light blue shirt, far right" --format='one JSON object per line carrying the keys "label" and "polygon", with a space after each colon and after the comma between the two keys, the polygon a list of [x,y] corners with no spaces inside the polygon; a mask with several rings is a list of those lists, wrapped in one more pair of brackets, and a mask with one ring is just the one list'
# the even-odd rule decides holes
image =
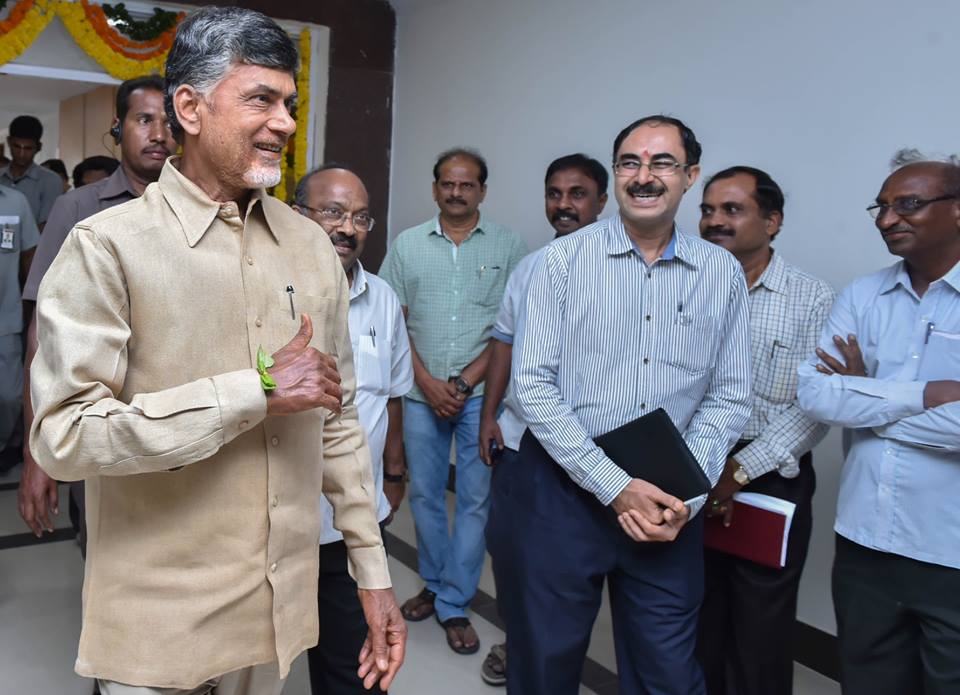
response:
{"label": "man with folded arms in light blue shirt, far right", "polygon": [[800,406],[845,428],[845,695],[960,692],[960,158],[894,167],[867,211],[902,260],[841,292],[800,367]]}

